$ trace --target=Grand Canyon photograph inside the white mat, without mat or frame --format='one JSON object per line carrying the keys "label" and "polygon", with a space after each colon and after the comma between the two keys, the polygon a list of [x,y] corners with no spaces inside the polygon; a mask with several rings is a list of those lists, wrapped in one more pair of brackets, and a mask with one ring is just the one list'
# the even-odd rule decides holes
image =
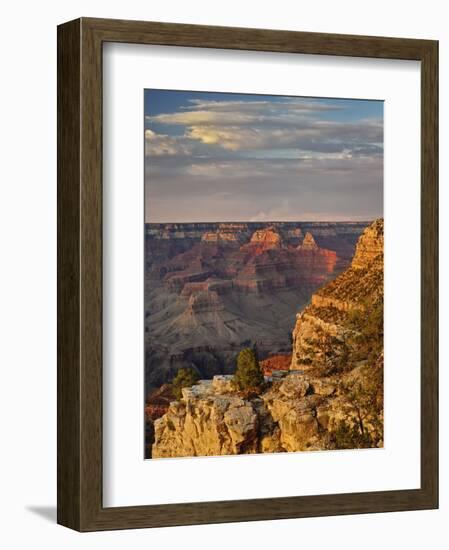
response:
{"label": "Grand Canyon photograph inside the white mat, without mat or frame", "polygon": [[145,458],[383,446],[383,102],[145,90]]}

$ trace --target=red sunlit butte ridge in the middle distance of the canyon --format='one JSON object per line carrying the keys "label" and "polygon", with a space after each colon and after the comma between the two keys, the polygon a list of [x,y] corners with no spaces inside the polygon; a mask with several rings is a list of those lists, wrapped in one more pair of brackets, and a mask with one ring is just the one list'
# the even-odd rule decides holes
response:
{"label": "red sunlit butte ridge in the middle distance of the canyon", "polygon": [[[183,296],[206,290],[223,294],[232,288],[257,294],[298,287],[309,291],[323,285],[337,267],[337,254],[320,248],[310,232],[300,246],[294,247],[269,226],[255,231],[250,242],[238,249],[217,244],[222,233],[235,235],[235,230],[223,232],[218,228],[213,238],[207,232],[203,242],[159,267],[171,291]],[[229,282],[217,282],[213,287],[209,279]]]}

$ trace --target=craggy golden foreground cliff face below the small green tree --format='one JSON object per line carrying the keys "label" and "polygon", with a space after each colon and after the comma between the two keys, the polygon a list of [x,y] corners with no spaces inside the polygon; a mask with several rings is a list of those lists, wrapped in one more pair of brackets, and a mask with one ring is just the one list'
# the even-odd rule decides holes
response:
{"label": "craggy golden foreground cliff face below the small green tree", "polygon": [[[306,394],[310,396],[306,398]],[[288,375],[260,397],[242,398],[223,377],[185,388],[154,424],[153,458],[303,450],[320,438],[318,394]]]}

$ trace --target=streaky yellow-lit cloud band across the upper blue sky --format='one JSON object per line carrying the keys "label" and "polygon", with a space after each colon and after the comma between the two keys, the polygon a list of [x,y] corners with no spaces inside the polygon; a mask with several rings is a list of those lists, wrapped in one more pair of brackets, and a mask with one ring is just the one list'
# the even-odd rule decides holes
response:
{"label": "streaky yellow-lit cloud band across the upper blue sky", "polygon": [[192,142],[233,152],[297,149],[334,153],[357,148],[357,154],[363,151],[370,154],[373,147],[381,149],[380,119],[349,122],[322,118],[323,113],[343,109],[294,99],[271,102],[195,99],[184,110],[146,117],[150,125],[183,129],[183,134],[172,140],[161,135],[157,141],[154,132],[149,134],[147,154],[194,154]]}

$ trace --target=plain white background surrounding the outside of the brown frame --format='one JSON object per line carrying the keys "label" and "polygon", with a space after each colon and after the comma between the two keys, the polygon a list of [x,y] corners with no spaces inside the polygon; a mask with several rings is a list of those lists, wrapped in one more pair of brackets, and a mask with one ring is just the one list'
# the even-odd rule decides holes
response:
{"label": "plain white background surrounding the outside of the brown frame", "polygon": [[[0,86],[0,544],[5,548],[445,548],[449,520],[449,33],[446,2],[16,1]],[[56,506],[56,25],[79,16],[440,40],[441,508],[79,535]],[[406,238],[406,235],[404,235]],[[6,378],[5,378],[6,375]],[[404,391],[407,384],[404,381]],[[407,419],[404,419],[407,422]]]}

